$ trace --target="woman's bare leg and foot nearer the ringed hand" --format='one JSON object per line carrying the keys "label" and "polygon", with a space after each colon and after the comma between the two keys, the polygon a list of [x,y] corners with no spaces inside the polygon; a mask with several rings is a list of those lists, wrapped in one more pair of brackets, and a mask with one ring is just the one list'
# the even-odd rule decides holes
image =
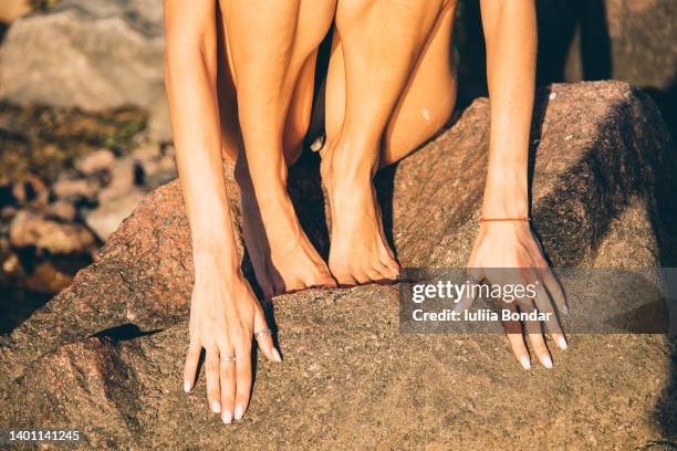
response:
{"label": "woman's bare leg and foot nearer the ringed hand", "polygon": [[[304,69],[312,67],[333,11],[334,0],[221,1],[244,144],[236,165],[244,240],[267,296],[335,285],[296,219],[283,153],[285,141],[292,146],[302,139],[295,133],[304,130],[287,127],[288,113],[294,92],[303,90],[299,80],[308,78]],[[312,77],[309,86],[312,90]]]}

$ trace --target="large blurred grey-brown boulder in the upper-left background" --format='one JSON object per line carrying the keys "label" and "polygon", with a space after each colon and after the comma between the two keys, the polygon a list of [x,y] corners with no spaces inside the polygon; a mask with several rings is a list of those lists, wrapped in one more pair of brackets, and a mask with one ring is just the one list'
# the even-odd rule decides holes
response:
{"label": "large blurred grey-brown boulder in the upper-left background", "polygon": [[61,0],[12,23],[0,48],[0,97],[100,109],[150,112],[169,137],[163,82],[162,0]]}

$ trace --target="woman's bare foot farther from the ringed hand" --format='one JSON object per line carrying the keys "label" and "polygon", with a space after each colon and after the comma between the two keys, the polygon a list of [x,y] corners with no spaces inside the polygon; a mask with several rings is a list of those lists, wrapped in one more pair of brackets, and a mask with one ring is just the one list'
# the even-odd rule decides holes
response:
{"label": "woman's bare foot farther from the ringed hand", "polygon": [[340,286],[394,281],[399,264],[385,239],[374,165],[358,168],[343,149],[327,145],[322,153],[322,182],[332,209],[330,270]]}

